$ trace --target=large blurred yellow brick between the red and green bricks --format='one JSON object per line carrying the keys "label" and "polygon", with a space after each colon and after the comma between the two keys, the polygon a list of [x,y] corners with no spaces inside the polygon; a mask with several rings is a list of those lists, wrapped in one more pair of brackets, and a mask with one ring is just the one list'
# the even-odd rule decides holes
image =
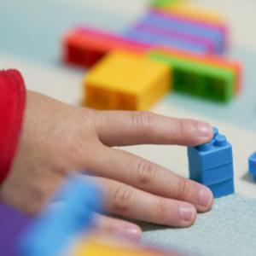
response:
{"label": "large blurred yellow brick between the red and green bricks", "polygon": [[96,109],[147,110],[170,90],[171,70],[146,55],[116,50],[84,78],[84,104]]}

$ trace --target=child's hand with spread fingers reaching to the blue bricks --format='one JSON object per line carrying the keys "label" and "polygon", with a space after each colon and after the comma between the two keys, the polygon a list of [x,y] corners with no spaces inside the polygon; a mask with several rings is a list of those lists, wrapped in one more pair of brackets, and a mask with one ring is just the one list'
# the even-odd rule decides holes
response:
{"label": "child's hand with spread fingers reaching to the blue bricks", "polygon": [[[0,195],[24,212],[38,212],[63,177],[86,170],[100,184],[108,212],[156,224],[189,226],[195,222],[196,212],[212,207],[211,191],[111,147],[146,143],[192,146],[211,138],[211,125],[199,121],[148,112],[75,108],[28,92],[20,146]],[[113,232],[140,236],[137,226],[128,222],[100,217],[98,224]]]}

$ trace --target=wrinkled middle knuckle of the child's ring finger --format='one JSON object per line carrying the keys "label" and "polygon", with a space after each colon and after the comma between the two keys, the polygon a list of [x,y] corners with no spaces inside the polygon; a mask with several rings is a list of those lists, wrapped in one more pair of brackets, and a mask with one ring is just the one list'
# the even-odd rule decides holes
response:
{"label": "wrinkled middle knuckle of the child's ring finger", "polygon": [[130,186],[119,186],[113,192],[113,209],[126,211],[131,207],[133,193]]}

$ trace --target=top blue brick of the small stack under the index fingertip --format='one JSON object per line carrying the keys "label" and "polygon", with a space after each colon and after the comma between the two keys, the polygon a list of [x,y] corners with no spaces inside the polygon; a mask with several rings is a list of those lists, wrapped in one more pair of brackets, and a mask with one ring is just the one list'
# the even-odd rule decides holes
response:
{"label": "top blue brick of the small stack under the index fingertip", "polygon": [[194,148],[189,147],[188,155],[189,172],[201,172],[233,161],[231,144],[217,130],[211,142]]}

